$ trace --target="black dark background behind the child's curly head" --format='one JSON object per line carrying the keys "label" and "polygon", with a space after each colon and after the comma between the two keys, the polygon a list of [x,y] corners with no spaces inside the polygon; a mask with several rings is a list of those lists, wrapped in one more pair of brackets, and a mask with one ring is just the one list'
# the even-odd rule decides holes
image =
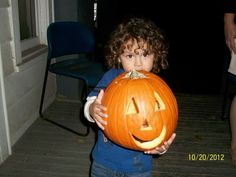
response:
{"label": "black dark background behind the child's curly head", "polygon": [[227,67],[221,1],[99,0],[98,53],[124,18],[147,17],[161,27],[169,42],[169,68],[160,73],[175,92],[219,94]]}

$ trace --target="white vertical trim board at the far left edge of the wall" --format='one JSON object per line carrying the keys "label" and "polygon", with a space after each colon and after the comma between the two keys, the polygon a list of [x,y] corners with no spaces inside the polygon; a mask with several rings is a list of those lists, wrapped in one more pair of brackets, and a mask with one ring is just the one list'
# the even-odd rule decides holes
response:
{"label": "white vertical trim board at the far left edge of the wall", "polygon": [[2,107],[3,113],[0,113],[0,116],[3,116],[0,119],[0,164],[6,160],[6,158],[11,155],[11,143],[10,143],[10,134],[9,134],[9,124],[8,124],[8,114],[7,114],[7,105],[5,97],[5,85],[4,85],[4,75],[3,75],[3,65],[2,65],[2,54],[0,46],[0,106]]}

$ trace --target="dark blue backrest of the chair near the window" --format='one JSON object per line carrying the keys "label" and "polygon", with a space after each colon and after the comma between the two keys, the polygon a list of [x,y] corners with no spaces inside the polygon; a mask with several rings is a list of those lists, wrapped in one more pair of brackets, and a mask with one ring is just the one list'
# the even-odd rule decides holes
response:
{"label": "dark blue backrest of the chair near the window", "polygon": [[47,29],[48,59],[95,50],[93,32],[80,22],[54,22]]}

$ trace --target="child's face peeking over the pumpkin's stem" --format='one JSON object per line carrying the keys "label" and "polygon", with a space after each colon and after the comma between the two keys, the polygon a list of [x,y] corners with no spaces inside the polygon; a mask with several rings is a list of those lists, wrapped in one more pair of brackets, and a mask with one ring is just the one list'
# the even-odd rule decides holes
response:
{"label": "child's face peeking over the pumpkin's stem", "polygon": [[[128,46],[130,47],[128,48]],[[153,67],[154,54],[148,51],[146,43],[138,45],[136,40],[129,40],[118,60],[125,71],[144,70],[149,72]]]}

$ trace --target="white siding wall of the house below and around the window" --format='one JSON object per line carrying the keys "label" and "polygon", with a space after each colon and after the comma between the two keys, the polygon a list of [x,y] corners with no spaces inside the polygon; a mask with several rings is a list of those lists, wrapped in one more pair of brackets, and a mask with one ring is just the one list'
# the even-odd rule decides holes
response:
{"label": "white siding wall of the house below and around the window", "polygon": [[[13,0],[14,1],[14,0]],[[0,46],[6,90],[6,103],[11,145],[23,135],[27,128],[39,117],[39,102],[46,65],[46,53],[38,56],[37,62],[27,65],[22,71],[14,70],[13,17],[10,0],[0,1]],[[45,96],[45,105],[55,98],[55,77],[50,75]]]}

